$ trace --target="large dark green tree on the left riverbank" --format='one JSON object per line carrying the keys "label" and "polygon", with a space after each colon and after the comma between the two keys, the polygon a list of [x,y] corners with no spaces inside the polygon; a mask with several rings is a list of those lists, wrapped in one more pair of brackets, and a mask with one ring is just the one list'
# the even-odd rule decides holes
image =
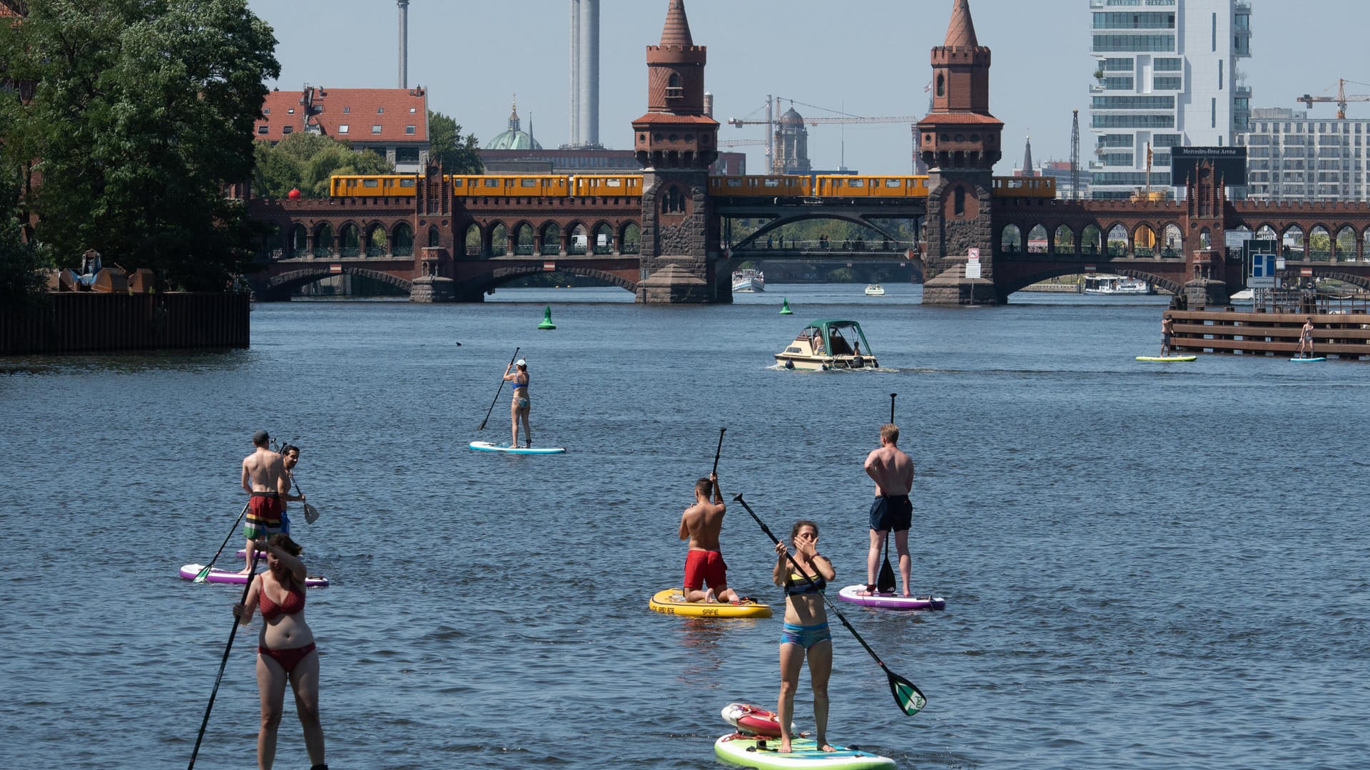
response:
{"label": "large dark green tree on the left riverbank", "polygon": [[226,288],[258,226],[223,189],[252,174],[274,48],[247,0],[32,0],[0,25],[7,77],[34,84],[0,100],[21,221],[63,264],[96,248],[170,288]]}

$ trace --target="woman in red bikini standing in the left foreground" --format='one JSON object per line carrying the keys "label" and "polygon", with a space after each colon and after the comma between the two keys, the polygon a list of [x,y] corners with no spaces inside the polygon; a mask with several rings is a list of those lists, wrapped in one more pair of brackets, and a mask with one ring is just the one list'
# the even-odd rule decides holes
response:
{"label": "woman in red bikini standing in the left foreground", "polygon": [[252,578],[247,601],[233,606],[233,615],[248,625],[262,608],[258,636],[258,689],[262,693],[262,729],[258,732],[258,767],[270,770],[275,760],[275,733],[281,726],[285,682],[295,691],[295,708],[304,728],[304,748],[310,770],[327,770],[323,763],[323,726],[319,723],[319,654],[314,632],[304,622],[304,562],[300,547],[289,534],[259,540],[266,552],[267,571]]}

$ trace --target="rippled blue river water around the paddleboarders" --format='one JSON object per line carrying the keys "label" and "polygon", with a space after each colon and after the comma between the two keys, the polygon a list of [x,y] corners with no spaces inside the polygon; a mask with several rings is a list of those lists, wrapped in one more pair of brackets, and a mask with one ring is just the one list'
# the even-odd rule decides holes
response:
{"label": "rippled blue river water around the paddleboarders", "polygon": [[[951,310],[886,289],[295,301],[255,308],[247,351],[0,359],[0,765],[189,759],[238,591],[177,567],[222,543],[266,427],[303,447],[323,514],[296,514],[296,537],[333,581],[307,610],[330,766],[711,767],[719,708],[774,704],[780,617],[647,600],[678,585],[680,512],[718,429],[725,495],[777,533],[815,519],[837,584],[863,582],[862,460],[897,392],[914,588],[948,604],[843,604],[927,707],[904,717],[834,618],[834,741],[921,769],[1363,767],[1370,369],[1134,362],[1155,355],[1163,297]],[[536,329],[544,304],[555,332]],[[860,321],[882,369],[774,369],[812,318]],[[515,347],[534,438],[566,455],[466,447],[508,440],[507,388],[477,426]],[[729,582],[780,607],[740,506],[722,545]],[[253,766],[258,622],[197,767]],[[801,729],[808,692],[806,673]],[[307,765],[288,703],[277,766]]]}

